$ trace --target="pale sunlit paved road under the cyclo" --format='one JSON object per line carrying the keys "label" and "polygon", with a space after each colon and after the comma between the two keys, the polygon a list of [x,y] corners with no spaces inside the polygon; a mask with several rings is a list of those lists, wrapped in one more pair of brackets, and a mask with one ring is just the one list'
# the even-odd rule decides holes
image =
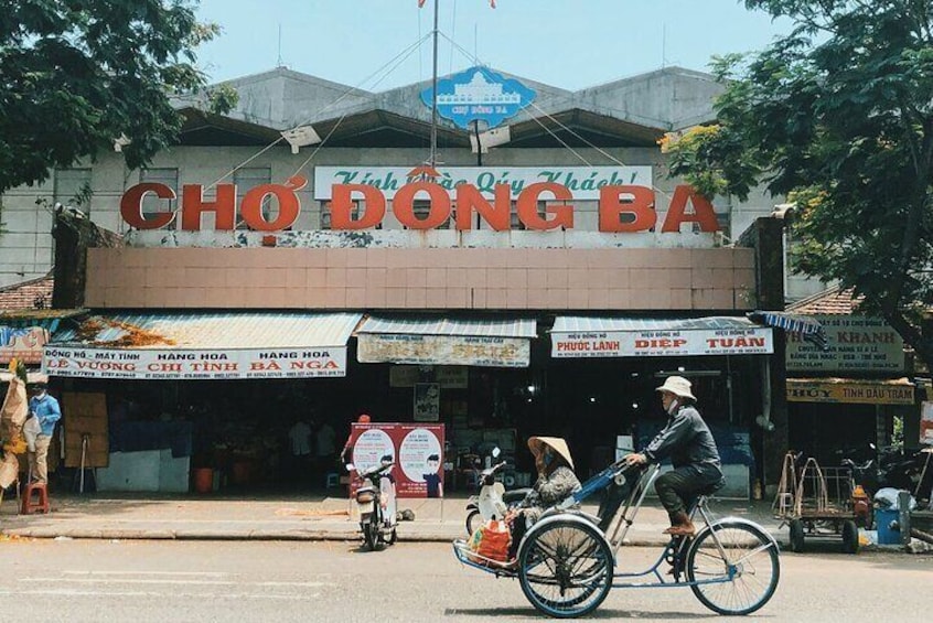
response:
{"label": "pale sunlit paved road under the cyclo", "polygon": [[[654,552],[631,548],[622,560]],[[441,544],[6,540],[0,569],[2,620],[18,623],[538,619],[516,581],[462,568]],[[931,587],[930,556],[786,554],[778,593],[753,617],[922,621]],[[722,620],[688,589],[616,589],[591,619],[707,617]]]}

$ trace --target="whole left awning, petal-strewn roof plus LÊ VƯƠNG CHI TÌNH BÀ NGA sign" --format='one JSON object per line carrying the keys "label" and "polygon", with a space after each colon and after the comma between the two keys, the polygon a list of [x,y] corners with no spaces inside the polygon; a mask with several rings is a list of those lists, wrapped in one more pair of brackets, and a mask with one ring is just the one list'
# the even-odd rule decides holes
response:
{"label": "whole left awning, petal-strewn roof plus L\u00ca V\u01af\u01a0NG CHI T\u00ccNH B\u00c0 NGA sign", "polygon": [[97,314],[45,346],[43,372],[90,378],[346,375],[360,313]]}

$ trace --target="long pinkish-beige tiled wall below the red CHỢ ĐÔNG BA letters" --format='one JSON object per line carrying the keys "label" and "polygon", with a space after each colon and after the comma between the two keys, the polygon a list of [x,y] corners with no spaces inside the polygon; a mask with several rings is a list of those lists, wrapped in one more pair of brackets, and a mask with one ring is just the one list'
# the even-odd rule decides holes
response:
{"label": "long pinkish-beige tiled wall below the red CH\u1ee2 \u0110\u00d4NG BA letters", "polygon": [[749,310],[712,249],[89,249],[90,308]]}

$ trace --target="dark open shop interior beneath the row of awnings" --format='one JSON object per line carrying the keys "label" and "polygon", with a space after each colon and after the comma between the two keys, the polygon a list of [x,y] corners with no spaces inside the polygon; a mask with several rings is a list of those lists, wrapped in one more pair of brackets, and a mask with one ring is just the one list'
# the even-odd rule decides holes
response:
{"label": "dark open shop interior beneath the row of awnings", "polygon": [[[64,397],[65,427],[75,419],[67,393],[106,396],[110,460],[103,462],[109,471],[115,452],[160,450],[164,477],[153,484],[152,469],[140,474],[157,491],[323,490],[336,483],[336,453],[351,422],[367,413],[374,422],[444,423],[446,491],[469,493],[494,447],[514,465],[505,473],[506,486],[533,484],[526,440],[534,434],[566,438],[581,477],[614,460],[619,436],[631,436],[634,448],[643,447],[665,422],[655,388],[665,376],[679,374],[694,383],[723,462],[744,464],[753,473],[761,357],[549,355],[544,345],[533,344],[527,368],[399,366],[360,364],[351,345],[347,375],[339,378],[57,379],[52,391]],[[310,455],[292,452],[290,432],[298,422],[311,429]],[[335,453],[318,456],[314,436],[325,428]],[[66,450],[74,454],[79,445]],[[95,460],[100,462],[100,455]],[[210,482],[195,482],[207,471]],[[97,481],[106,476],[106,471],[97,473]],[[121,474],[119,482],[126,480]],[[89,486],[96,484],[106,483]]]}

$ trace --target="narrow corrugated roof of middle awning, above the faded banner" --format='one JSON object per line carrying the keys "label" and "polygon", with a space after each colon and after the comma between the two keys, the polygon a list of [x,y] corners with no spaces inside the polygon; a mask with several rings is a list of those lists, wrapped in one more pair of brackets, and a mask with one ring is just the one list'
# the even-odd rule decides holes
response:
{"label": "narrow corrugated roof of middle awning, above the faded banner", "polygon": [[356,333],[411,335],[472,335],[480,337],[536,337],[537,321],[515,319],[379,318],[367,316]]}

